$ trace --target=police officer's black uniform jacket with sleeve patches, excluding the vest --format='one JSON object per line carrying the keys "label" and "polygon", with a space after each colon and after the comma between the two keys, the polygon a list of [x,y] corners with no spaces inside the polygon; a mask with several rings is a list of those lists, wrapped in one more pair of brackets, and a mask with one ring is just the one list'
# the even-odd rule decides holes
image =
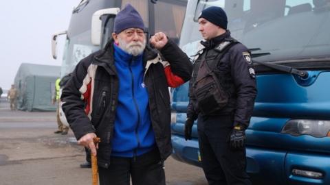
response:
{"label": "police officer's black uniform jacket with sleeve patches, excluding the vest", "polygon": [[[205,48],[195,63],[198,63],[198,60],[202,60],[202,58],[217,62],[217,68],[214,69],[214,73],[219,77],[219,82],[221,86],[223,86],[225,92],[230,95],[228,105],[212,113],[212,115],[234,114],[233,126],[243,125],[243,127],[246,128],[250,123],[257,92],[252,60],[248,49],[238,42],[232,45],[232,47],[229,47],[229,49],[223,50],[225,53],[223,53],[221,60],[215,61],[216,57],[214,57],[214,53],[216,53],[216,55],[218,54],[217,51],[214,51],[214,48],[218,47],[226,40],[233,40],[228,30],[225,34],[212,38],[207,42],[202,41],[201,44]],[[190,79],[190,92],[192,90],[191,86],[195,83],[195,80],[194,77]],[[197,119],[199,110],[196,104],[195,97],[190,95],[187,111],[188,118]]]}

